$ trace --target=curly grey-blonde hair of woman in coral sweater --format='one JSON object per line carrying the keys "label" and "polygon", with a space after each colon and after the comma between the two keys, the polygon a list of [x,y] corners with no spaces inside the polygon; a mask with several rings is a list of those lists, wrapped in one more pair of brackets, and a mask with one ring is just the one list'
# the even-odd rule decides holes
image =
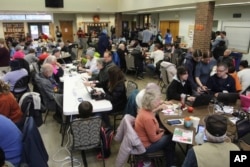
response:
{"label": "curly grey-blonde hair of woman in coral sweater", "polygon": [[145,110],[152,111],[154,109],[154,103],[161,97],[161,91],[158,85],[150,83],[145,89],[145,93],[142,97],[141,105]]}

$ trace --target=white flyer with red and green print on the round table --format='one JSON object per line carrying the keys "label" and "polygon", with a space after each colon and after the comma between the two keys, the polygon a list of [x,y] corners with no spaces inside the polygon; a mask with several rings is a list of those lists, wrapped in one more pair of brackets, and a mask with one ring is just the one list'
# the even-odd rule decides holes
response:
{"label": "white flyer with red and green print on the round table", "polygon": [[175,128],[172,140],[180,143],[192,144],[193,131],[181,128]]}

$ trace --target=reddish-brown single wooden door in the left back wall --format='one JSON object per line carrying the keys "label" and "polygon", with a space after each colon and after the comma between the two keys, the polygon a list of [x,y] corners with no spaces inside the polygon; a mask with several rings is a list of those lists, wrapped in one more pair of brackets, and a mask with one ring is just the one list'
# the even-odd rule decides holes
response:
{"label": "reddish-brown single wooden door in the left back wall", "polygon": [[73,21],[59,21],[63,41],[73,42]]}

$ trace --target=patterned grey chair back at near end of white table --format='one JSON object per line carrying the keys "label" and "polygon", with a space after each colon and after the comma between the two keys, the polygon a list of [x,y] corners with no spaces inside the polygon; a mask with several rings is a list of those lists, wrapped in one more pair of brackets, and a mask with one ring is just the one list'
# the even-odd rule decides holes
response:
{"label": "patterned grey chair back at near end of white table", "polygon": [[100,145],[100,117],[75,119],[70,123],[73,136],[72,148],[75,150],[88,150]]}

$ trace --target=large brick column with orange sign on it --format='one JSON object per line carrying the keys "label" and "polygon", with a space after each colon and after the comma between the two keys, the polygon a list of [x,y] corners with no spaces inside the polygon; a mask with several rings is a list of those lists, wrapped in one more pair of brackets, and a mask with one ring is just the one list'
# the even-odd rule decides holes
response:
{"label": "large brick column with orange sign on it", "polygon": [[215,2],[201,2],[196,5],[193,48],[210,50]]}

